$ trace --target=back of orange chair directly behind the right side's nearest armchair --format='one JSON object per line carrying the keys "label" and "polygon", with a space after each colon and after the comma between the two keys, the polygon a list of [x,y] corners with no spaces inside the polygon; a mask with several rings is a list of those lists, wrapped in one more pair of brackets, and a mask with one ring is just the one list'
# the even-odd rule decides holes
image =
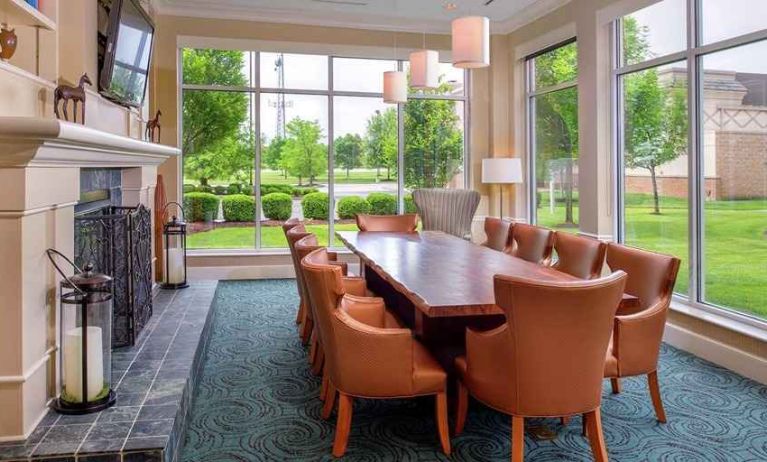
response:
{"label": "back of orange chair directly behind the right side's nearest armchair", "polygon": [[553,268],[581,279],[596,279],[602,275],[607,244],[570,233],[557,233],[556,236],[557,261]]}

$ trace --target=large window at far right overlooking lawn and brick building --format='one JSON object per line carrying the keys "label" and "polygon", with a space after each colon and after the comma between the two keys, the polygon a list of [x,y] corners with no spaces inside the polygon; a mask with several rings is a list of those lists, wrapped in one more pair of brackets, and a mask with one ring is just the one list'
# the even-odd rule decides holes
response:
{"label": "large window at far right overlooking lawn and brick building", "polygon": [[765,13],[665,0],[615,28],[620,238],[681,258],[676,291],[693,304],[754,322],[767,318]]}

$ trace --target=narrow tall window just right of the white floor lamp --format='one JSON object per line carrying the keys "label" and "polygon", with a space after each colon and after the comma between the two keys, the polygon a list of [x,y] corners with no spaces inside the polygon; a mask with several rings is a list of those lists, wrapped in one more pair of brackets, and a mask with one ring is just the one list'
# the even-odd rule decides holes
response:
{"label": "narrow tall window just right of the white floor lamp", "polygon": [[533,222],[578,229],[578,48],[575,42],[527,60]]}

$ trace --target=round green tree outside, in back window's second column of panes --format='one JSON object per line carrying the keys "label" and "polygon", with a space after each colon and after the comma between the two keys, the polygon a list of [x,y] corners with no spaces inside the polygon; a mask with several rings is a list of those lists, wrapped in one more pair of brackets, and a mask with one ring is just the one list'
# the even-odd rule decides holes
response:
{"label": "round green tree outside, in back window's second column of panes", "polygon": [[322,129],[318,121],[294,118],[285,128],[287,141],[282,148],[284,165],[288,173],[298,177],[298,184],[303,178],[313,185],[317,175],[328,169],[327,146],[320,142]]}

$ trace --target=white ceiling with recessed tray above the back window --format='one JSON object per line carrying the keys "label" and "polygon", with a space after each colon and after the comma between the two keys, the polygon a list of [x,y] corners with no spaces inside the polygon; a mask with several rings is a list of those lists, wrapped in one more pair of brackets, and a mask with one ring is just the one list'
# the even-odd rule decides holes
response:
{"label": "white ceiling with recessed tray above the back window", "polygon": [[[508,33],[569,0],[153,0],[159,14],[220,19],[449,32],[458,16],[488,16]],[[453,9],[447,8],[449,4]]]}

